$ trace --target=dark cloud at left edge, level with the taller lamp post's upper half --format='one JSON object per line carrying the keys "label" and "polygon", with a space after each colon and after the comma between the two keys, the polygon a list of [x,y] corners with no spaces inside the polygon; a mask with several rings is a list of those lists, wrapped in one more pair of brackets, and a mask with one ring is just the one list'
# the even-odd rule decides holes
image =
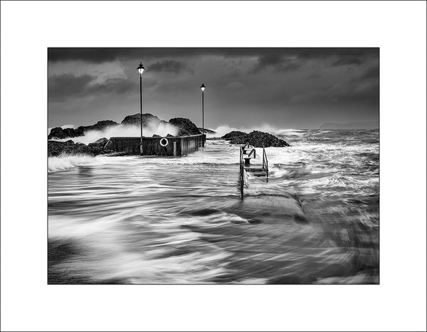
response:
{"label": "dark cloud at left edge, level with the taller lamp post's upper half", "polygon": [[73,74],[52,75],[48,79],[49,101],[63,101],[73,97],[91,94],[112,93],[121,95],[135,90],[135,83],[121,77],[111,77],[102,83],[95,83],[93,75]]}

